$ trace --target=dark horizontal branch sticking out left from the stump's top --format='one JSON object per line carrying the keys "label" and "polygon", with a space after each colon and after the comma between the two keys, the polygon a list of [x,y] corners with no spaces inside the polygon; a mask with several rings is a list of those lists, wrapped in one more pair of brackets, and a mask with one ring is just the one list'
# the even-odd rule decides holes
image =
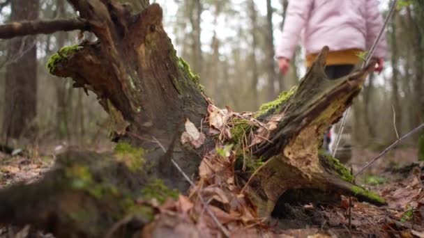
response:
{"label": "dark horizontal branch sticking out left from the stump's top", "polygon": [[56,31],[89,31],[89,29],[89,23],[80,18],[12,22],[0,26],[0,38],[9,39],[23,35],[50,34]]}

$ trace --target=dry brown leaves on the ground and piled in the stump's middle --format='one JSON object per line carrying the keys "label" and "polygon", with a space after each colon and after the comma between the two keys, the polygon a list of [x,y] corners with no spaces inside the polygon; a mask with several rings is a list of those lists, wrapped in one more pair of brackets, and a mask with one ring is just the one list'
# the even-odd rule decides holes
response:
{"label": "dry brown leaves on the ground and piled in the stump's middle", "polygon": [[[229,129],[234,125],[235,118],[242,118],[252,126],[263,128],[256,137],[251,132],[245,132],[250,142],[257,138],[257,143],[260,143],[260,140],[266,140],[270,130],[275,129],[282,115],[263,125],[253,118],[252,113],[235,113],[229,108],[218,109],[213,105],[208,111],[206,122],[219,135],[215,141],[215,150],[206,153],[202,159],[199,179],[187,195],[180,194],[178,199],[169,199],[162,205],[154,200],[149,202],[152,207],[156,207],[157,212],[154,221],[144,227],[142,234],[147,235],[153,228],[159,228],[156,230],[162,233],[156,235],[163,235],[162,237],[170,234],[176,237],[225,237],[213,217],[206,212],[209,209],[220,225],[229,232],[229,237],[423,237],[423,165],[419,167],[419,173],[415,170],[404,180],[393,182],[388,179],[384,184],[375,184],[380,195],[388,201],[387,207],[375,207],[353,200],[351,228],[348,227],[349,202],[345,197],[342,197],[342,203],[338,206],[307,204],[300,207],[303,211],[315,212],[321,217],[321,223],[311,222],[301,228],[282,230],[278,225],[259,217],[248,196],[235,182],[237,148],[225,144],[225,141],[232,136]],[[204,143],[202,128],[197,129],[188,119],[183,134],[185,136],[181,136],[181,141],[190,143],[195,148]],[[0,187],[22,181],[35,181],[50,168],[52,161],[53,159],[45,161],[22,157],[2,159]],[[202,203],[199,196],[206,203]],[[12,228],[0,226],[0,237],[8,229]],[[21,231],[25,232],[17,230]]]}

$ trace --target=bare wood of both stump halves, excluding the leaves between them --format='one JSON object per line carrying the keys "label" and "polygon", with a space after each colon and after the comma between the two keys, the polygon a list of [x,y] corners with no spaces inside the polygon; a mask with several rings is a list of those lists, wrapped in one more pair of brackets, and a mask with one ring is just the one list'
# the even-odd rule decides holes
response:
{"label": "bare wood of both stump halves, excluding the leaves between them", "polygon": [[[142,200],[175,195],[161,181],[182,192],[188,188],[171,159],[189,177],[196,177],[200,159],[214,148],[213,136],[197,150],[179,138],[187,118],[202,125],[209,101],[197,77],[176,56],[157,4],[131,15],[114,0],[70,2],[90,22],[99,41],[61,49],[48,68],[98,95],[113,122],[114,140],[120,143],[114,154],[70,150],[43,180],[0,191],[0,222],[31,223],[60,237],[122,237],[113,225],[123,216],[132,221],[125,222],[130,226],[127,232],[131,225],[137,230],[151,221],[152,208]],[[327,52],[328,47],[292,95],[281,95],[255,114],[264,124],[279,118],[268,139],[252,147],[250,161],[264,165],[237,175],[260,216],[269,216],[278,198],[290,189],[384,203],[352,184],[344,166],[319,154],[325,129],[342,116],[372,68],[326,80]],[[252,137],[261,129],[252,128]],[[241,140],[234,134],[233,143]]]}

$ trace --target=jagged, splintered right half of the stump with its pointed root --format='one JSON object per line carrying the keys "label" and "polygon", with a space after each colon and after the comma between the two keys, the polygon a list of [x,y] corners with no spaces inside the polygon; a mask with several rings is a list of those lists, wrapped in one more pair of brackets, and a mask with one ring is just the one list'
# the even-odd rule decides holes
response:
{"label": "jagged, splintered right half of the stump with its pointed root", "polygon": [[354,185],[354,177],[337,159],[319,151],[328,125],[340,119],[350,106],[374,65],[330,81],[324,73],[327,53],[328,47],[324,47],[296,93],[275,105],[265,117],[281,119],[268,140],[255,146],[253,154],[265,164],[246,185],[262,216],[271,214],[287,189],[317,189],[385,204],[379,196]]}

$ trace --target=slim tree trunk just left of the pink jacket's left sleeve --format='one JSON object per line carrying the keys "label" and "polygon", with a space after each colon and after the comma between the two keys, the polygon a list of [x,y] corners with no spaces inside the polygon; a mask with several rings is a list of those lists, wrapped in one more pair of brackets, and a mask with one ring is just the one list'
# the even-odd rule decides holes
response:
{"label": "slim tree trunk just left of the pink jacket's left sleeve", "polygon": [[266,73],[268,76],[268,97],[272,100],[275,97],[275,59],[274,59],[274,38],[273,38],[273,7],[271,0],[266,0]]}

